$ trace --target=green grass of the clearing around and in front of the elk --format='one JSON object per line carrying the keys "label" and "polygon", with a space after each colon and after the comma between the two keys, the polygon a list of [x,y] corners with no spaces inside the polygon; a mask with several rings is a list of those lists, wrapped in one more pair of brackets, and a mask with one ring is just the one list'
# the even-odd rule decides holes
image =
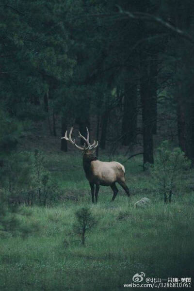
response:
{"label": "green grass of the clearing around and in front of the elk", "polygon": [[[140,272],[162,279],[192,277],[194,194],[179,194],[165,206],[139,164],[139,159],[125,164],[127,184],[135,194],[131,200],[119,188],[111,203],[110,187],[101,187],[99,203],[92,205],[81,156],[50,155],[48,168],[64,194],[75,195],[78,201],[34,206],[31,215],[20,217],[26,226],[38,226],[28,237],[4,234],[0,291],[120,291]],[[134,208],[133,203],[145,196],[152,205]],[[83,206],[98,222],[86,233],[85,246],[73,232],[74,213]]]}

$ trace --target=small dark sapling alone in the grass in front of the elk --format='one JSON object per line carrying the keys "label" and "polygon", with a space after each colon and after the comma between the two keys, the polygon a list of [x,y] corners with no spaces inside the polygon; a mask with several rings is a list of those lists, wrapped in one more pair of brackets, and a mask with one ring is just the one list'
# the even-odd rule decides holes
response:
{"label": "small dark sapling alone in the grass in front of the elk", "polygon": [[74,232],[81,235],[81,244],[85,244],[85,233],[97,224],[89,208],[81,208],[75,212],[77,223],[74,223]]}

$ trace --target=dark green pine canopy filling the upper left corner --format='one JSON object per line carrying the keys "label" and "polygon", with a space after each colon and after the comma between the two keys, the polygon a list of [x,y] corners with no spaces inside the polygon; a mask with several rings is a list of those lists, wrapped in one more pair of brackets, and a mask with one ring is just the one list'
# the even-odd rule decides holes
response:
{"label": "dark green pine canopy filling the upper left corner", "polygon": [[[67,55],[65,26],[68,6],[60,0],[2,0],[0,99],[6,111],[22,121],[45,118],[44,94],[53,88],[58,92],[72,75],[75,61]],[[57,92],[52,98],[60,97]]]}

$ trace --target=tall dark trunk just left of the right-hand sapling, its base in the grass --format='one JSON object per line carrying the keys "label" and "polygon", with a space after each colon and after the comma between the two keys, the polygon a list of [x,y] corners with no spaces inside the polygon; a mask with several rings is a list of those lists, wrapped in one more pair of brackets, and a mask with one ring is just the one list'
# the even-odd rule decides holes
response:
{"label": "tall dark trunk just left of the right-hand sapling, its base in the grass", "polygon": [[149,90],[148,59],[142,51],[140,54],[141,79],[140,96],[142,102],[142,122],[143,122],[143,145],[144,145],[144,165],[146,162],[153,163],[153,134],[152,134],[152,97]]}

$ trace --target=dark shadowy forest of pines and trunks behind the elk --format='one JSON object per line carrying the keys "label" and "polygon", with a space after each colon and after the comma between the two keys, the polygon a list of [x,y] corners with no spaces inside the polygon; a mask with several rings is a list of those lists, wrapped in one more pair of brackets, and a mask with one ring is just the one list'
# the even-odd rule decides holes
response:
{"label": "dark shadowy forest of pines and trunks behind the elk", "polygon": [[42,121],[58,137],[87,126],[101,149],[144,163],[164,139],[194,161],[193,10],[191,0],[1,1],[1,151]]}

